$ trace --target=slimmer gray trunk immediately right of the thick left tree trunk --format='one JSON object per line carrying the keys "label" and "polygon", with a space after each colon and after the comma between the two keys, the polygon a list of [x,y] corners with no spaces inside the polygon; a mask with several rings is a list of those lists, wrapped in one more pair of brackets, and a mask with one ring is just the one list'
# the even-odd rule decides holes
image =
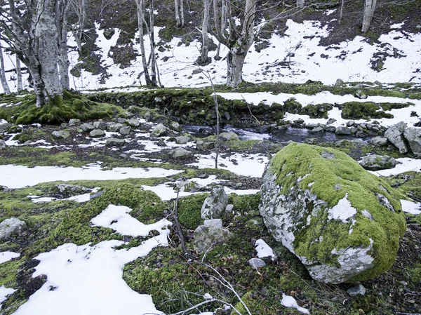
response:
{"label": "slimmer gray trunk immediately right of the thick left tree trunk", "polygon": [[59,40],[58,40],[58,70],[60,74],[60,83],[62,88],[67,90],[70,89],[69,80],[69,55],[67,55],[67,13],[69,11],[69,3],[67,0],[58,1],[56,7],[55,18],[58,20],[57,28]]}

